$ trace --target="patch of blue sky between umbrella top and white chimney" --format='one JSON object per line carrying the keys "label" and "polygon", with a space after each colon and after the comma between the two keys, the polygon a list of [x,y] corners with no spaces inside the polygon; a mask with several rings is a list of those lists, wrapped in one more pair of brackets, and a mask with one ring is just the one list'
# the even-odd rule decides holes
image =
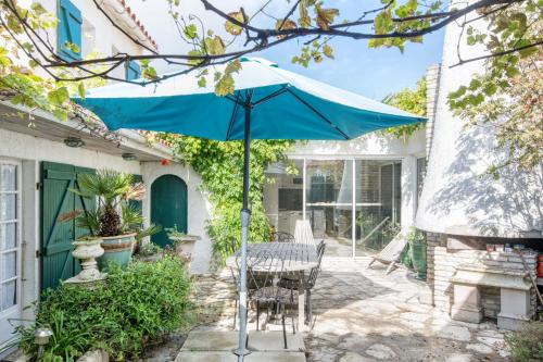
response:
{"label": "patch of blue sky between umbrella top and white chimney", "polygon": [[334,60],[312,63],[304,68],[292,64],[292,55],[300,52],[300,45],[289,43],[260,52],[280,67],[319,79],[368,98],[381,100],[384,96],[405,87],[414,87],[429,65],[440,63],[443,32],[425,38],[425,42],[407,45],[402,54],[397,49],[369,49],[367,41],[334,39]]}

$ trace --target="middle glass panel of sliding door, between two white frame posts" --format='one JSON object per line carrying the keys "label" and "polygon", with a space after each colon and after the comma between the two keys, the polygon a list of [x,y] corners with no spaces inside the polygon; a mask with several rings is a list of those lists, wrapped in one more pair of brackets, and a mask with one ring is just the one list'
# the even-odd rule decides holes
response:
{"label": "middle glass panel of sliding door, between two white frame posts", "polygon": [[326,254],[353,254],[353,160],[306,161],[306,217]]}

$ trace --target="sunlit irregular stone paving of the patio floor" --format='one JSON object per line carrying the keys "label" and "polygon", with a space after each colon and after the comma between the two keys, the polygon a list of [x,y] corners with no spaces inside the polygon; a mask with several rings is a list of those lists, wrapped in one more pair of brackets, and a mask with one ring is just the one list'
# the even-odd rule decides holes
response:
{"label": "sunlit irregular stone paving of the patio floor", "polygon": [[[493,322],[451,321],[428,304],[430,290],[413,273],[397,269],[386,276],[384,266],[367,270],[368,262],[324,260],[313,292],[314,327],[305,333],[308,361],[508,361],[504,333]],[[229,271],[200,277],[198,284],[198,328],[231,328]]]}

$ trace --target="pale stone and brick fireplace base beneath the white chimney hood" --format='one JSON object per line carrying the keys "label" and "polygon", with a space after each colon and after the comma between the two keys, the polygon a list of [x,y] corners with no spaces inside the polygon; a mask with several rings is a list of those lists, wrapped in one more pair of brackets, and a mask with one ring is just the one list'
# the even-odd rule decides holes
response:
{"label": "pale stone and brick fireplace base beneath the white chimney hood", "polygon": [[427,240],[432,303],[452,319],[480,323],[490,317],[501,328],[516,329],[534,315],[536,296],[526,269],[535,274],[538,253],[521,251],[525,269],[517,251],[487,251],[487,244],[520,240],[435,233],[428,233]]}

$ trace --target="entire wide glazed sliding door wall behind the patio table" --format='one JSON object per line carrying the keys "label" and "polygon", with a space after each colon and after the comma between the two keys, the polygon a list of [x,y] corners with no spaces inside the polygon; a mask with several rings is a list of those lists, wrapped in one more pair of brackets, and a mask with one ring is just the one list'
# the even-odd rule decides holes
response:
{"label": "entire wide glazed sliding door wall behind the patio table", "polygon": [[275,230],[294,235],[295,222],[310,221],[326,255],[375,254],[400,230],[400,160],[290,160],[270,165],[264,207]]}

